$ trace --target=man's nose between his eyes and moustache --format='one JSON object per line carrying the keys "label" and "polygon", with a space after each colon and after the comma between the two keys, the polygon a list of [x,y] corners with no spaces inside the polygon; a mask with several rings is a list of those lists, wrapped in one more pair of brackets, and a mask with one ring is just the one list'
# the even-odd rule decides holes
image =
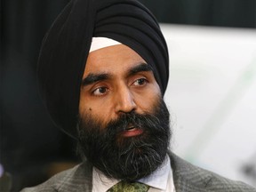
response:
{"label": "man's nose between his eyes and moustache", "polygon": [[115,97],[116,113],[130,113],[137,108],[133,94],[129,87],[123,86],[119,88]]}

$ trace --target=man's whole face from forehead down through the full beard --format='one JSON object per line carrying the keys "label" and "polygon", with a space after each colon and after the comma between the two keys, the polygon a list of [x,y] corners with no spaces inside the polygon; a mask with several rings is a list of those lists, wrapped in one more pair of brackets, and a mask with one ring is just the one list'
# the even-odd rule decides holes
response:
{"label": "man's whole face from forehead down through the full beard", "polygon": [[107,176],[138,180],[164,161],[169,113],[151,68],[131,48],[89,54],[79,116],[80,148]]}

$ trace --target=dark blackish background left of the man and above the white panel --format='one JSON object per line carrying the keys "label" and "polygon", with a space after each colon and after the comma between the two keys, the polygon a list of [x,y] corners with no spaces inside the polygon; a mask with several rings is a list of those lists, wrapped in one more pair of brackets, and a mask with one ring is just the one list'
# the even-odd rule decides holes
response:
{"label": "dark blackish background left of the man and above the white panel", "polygon": [[[159,22],[228,28],[256,27],[256,0],[140,0]],[[47,115],[36,89],[40,44],[68,0],[2,0],[0,164],[12,191],[46,180],[49,164],[75,163],[75,140]]]}

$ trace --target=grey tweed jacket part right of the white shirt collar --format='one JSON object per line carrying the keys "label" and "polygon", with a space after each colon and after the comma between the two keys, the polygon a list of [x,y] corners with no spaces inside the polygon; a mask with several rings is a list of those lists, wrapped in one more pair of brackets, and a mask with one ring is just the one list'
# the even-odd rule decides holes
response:
{"label": "grey tweed jacket part right of the white shirt collar", "polygon": [[177,191],[256,192],[256,188],[244,182],[229,180],[217,173],[204,170],[172,153],[170,158]]}

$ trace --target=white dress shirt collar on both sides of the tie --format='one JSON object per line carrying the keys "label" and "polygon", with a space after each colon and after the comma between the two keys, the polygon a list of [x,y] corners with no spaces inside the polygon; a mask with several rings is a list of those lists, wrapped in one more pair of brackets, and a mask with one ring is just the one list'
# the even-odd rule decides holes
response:
{"label": "white dress shirt collar on both sides of the tie", "polygon": [[[106,192],[119,181],[120,180],[109,179],[100,172],[100,170],[93,167],[92,192]],[[148,192],[175,192],[169,156],[166,156],[163,164],[159,166],[155,172],[152,172],[148,177],[138,181],[150,187]]]}

